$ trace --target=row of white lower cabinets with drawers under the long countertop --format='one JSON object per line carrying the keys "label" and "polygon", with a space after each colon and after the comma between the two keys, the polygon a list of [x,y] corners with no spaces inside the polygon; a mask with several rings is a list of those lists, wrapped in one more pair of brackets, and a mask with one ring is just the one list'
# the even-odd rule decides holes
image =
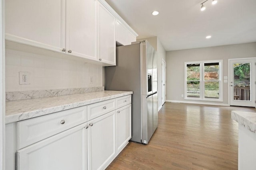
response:
{"label": "row of white lower cabinets with drawers under the long countertop", "polygon": [[107,168],[131,138],[131,102],[131,95],[122,96],[7,126],[17,140],[6,143],[18,149],[6,150],[11,160],[6,167],[14,167],[16,152],[17,170]]}

